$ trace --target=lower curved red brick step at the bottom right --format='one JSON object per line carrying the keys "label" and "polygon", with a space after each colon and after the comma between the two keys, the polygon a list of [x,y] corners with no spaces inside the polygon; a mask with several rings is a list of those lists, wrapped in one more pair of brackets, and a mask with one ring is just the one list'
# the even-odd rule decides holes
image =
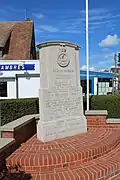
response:
{"label": "lower curved red brick step at the bottom right", "polygon": [[84,165],[59,168],[54,173],[32,174],[32,180],[119,180],[120,145],[103,157]]}

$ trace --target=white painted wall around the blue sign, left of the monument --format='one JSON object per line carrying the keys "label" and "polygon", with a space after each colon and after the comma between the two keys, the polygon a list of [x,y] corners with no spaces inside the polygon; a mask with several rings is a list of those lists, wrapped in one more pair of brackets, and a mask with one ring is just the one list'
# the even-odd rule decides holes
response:
{"label": "white painted wall around the blue sign, left of the monument", "polygon": [[[35,70],[27,71],[30,74],[40,73],[40,60],[1,60],[0,65],[5,64],[35,64]],[[26,71],[1,71],[3,74],[2,77],[15,77],[16,74],[24,74]],[[19,88],[19,98],[27,97],[38,97],[38,89],[40,88],[39,78],[26,78],[18,79],[18,88]],[[7,82],[7,94],[8,97],[0,97],[0,99],[13,99],[16,98],[16,81]]]}

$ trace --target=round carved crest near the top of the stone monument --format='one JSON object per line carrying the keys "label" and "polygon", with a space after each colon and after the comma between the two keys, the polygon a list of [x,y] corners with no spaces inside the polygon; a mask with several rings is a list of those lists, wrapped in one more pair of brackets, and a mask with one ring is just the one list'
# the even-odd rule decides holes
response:
{"label": "round carved crest near the top of the stone monument", "polygon": [[57,63],[60,67],[63,67],[63,68],[67,67],[70,63],[70,60],[68,59],[66,49],[64,46],[61,46],[59,48]]}

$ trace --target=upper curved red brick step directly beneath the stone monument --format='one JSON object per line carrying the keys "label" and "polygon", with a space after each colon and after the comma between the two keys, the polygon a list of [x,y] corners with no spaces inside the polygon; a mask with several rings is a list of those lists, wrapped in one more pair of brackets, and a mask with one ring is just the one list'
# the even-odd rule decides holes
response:
{"label": "upper curved red brick step directly beneath the stone monument", "polygon": [[115,148],[119,139],[120,131],[111,129],[90,129],[86,134],[48,143],[33,136],[7,158],[7,165],[18,163],[25,172],[53,173],[103,156]]}

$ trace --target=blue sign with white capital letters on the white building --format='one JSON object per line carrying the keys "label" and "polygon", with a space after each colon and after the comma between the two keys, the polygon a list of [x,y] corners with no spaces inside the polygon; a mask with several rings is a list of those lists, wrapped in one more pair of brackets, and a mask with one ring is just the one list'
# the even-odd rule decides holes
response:
{"label": "blue sign with white capital letters on the white building", "polygon": [[35,64],[0,64],[0,71],[33,71]]}

